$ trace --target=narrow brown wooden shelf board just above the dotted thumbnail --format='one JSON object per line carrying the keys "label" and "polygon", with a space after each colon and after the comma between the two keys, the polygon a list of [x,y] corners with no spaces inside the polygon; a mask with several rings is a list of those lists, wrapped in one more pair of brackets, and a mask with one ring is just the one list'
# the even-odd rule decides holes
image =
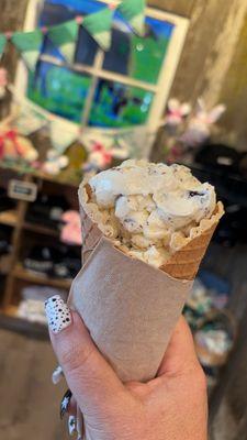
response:
{"label": "narrow brown wooden shelf board just above the dotted thumbnail", "polygon": [[20,263],[13,270],[13,276],[29,283],[42,284],[45,286],[57,287],[68,290],[71,286],[71,279],[49,278],[47,276],[32,274],[26,271]]}

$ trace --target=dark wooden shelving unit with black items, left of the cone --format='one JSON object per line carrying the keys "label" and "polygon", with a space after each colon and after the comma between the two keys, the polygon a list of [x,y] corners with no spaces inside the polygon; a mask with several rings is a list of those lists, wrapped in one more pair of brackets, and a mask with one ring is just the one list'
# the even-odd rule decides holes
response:
{"label": "dark wooden shelving unit with black items, left of the cone", "polygon": [[[37,185],[34,202],[8,198],[8,185],[16,177]],[[7,228],[10,246],[5,254],[7,243],[0,240],[4,248],[4,262],[0,257],[0,271],[4,274],[1,307],[4,315],[13,317],[18,316],[23,285],[61,288],[68,294],[71,278],[80,267],[80,251],[74,245],[61,245],[59,235],[65,226],[63,213],[76,208],[77,196],[74,186],[60,186],[30,174],[20,177],[5,168],[0,168],[0,232]]]}

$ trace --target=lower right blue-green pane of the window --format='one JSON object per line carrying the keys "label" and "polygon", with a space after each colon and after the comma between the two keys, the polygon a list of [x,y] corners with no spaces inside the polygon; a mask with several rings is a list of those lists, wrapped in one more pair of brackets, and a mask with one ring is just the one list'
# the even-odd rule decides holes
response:
{"label": "lower right blue-green pane of the window", "polygon": [[100,80],[90,116],[90,125],[124,128],[144,124],[154,98],[150,91]]}

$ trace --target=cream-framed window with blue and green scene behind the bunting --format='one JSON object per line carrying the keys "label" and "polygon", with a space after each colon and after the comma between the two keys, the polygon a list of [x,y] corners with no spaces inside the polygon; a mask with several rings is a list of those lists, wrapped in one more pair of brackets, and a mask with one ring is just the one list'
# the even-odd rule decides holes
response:
{"label": "cream-framed window with blue and green scene behind the bunting", "polygon": [[[111,1],[112,2],[112,1]],[[99,11],[109,0],[31,0],[25,30]],[[35,13],[36,11],[36,13]],[[157,128],[175,76],[188,20],[147,8],[145,37],[115,14],[112,45],[103,53],[80,26],[75,63],[67,66],[46,36],[34,77],[22,87],[46,110],[87,127]],[[22,69],[23,75],[23,67]]]}

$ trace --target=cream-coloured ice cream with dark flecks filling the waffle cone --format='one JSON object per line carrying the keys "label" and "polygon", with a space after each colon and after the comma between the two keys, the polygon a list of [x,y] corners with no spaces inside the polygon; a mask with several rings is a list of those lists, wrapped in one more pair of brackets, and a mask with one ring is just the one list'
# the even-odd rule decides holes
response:
{"label": "cream-coloured ice cream with dark flecks filling the waffle cone", "polygon": [[176,164],[125,161],[91,177],[88,185],[88,208],[103,234],[156,267],[172,252],[173,235],[189,237],[216,206],[214,187]]}

